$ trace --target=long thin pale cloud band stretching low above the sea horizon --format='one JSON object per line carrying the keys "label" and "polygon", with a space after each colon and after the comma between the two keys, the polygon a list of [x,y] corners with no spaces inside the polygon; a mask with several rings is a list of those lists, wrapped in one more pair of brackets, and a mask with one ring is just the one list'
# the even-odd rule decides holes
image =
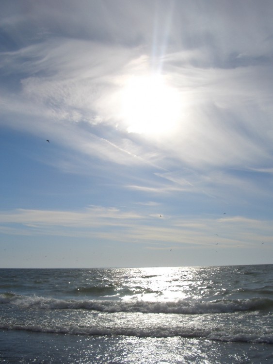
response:
{"label": "long thin pale cloud band stretching low above the sea horizon", "polygon": [[159,216],[91,206],[83,211],[16,210],[0,214],[6,234],[63,235],[104,238],[111,242],[222,247],[272,242],[272,222],[244,216],[216,218]]}

